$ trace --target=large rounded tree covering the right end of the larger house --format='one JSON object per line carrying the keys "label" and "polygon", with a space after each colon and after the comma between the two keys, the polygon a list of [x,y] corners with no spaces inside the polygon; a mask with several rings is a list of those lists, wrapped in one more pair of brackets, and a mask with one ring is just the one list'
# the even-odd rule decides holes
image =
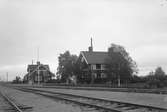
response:
{"label": "large rounded tree covering the right end of the larger house", "polygon": [[118,79],[118,86],[121,81],[127,81],[133,74],[137,73],[137,65],[129,56],[129,53],[124,47],[116,44],[111,44],[108,48],[107,73],[110,80]]}

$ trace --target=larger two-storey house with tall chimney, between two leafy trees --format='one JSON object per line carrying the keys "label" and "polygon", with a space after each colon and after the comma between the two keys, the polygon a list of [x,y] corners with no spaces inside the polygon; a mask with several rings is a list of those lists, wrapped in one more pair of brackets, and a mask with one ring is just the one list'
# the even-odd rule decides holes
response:
{"label": "larger two-storey house with tall chimney, between two leafy trees", "polygon": [[82,70],[81,74],[79,74],[81,82],[104,82],[107,78],[107,57],[107,52],[93,51],[93,44],[91,39],[91,47],[89,47],[89,51],[81,51],[78,58],[78,62],[80,63],[80,69]]}

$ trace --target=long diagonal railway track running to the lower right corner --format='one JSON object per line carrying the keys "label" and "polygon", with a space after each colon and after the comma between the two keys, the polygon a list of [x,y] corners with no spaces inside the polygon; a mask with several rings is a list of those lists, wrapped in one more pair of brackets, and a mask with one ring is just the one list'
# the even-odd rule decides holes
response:
{"label": "long diagonal railway track running to the lower right corner", "polygon": [[24,92],[39,94],[52,99],[59,99],[72,102],[81,106],[87,106],[104,112],[167,112],[167,109],[131,104],[125,102],[98,99],[80,95],[66,94],[60,92],[51,92],[32,88],[16,88]]}

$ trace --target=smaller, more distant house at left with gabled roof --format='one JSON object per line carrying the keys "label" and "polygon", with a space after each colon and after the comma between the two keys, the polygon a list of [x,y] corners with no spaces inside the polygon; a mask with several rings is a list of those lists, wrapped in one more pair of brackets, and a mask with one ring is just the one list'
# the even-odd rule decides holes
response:
{"label": "smaller, more distant house at left with gabled roof", "polygon": [[44,83],[51,80],[55,74],[50,71],[49,65],[43,65],[39,61],[27,67],[27,74],[24,76],[26,83]]}

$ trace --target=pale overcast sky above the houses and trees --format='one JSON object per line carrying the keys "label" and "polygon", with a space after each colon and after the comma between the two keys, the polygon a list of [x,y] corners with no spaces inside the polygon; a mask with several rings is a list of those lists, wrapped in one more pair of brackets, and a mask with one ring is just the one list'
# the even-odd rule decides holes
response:
{"label": "pale overcast sky above the houses and trees", "polygon": [[58,56],[125,47],[138,75],[167,72],[166,0],[0,0],[0,79],[23,77],[39,60],[56,73]]}

